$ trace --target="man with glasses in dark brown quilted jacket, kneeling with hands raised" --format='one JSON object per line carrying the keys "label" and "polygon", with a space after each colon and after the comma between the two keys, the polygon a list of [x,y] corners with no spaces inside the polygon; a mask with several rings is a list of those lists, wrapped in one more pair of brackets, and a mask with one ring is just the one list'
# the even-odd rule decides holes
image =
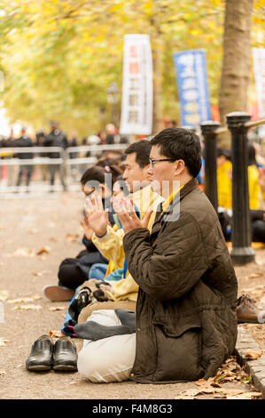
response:
{"label": "man with glasses in dark brown quilted jacket, kneeling with hands raised", "polygon": [[196,180],[199,137],[168,128],[151,144],[152,187],[166,199],[152,232],[133,205],[130,213],[125,204],[116,208],[129,272],[139,285],[130,378],[207,379],[235,348],[238,281],[217,214]]}

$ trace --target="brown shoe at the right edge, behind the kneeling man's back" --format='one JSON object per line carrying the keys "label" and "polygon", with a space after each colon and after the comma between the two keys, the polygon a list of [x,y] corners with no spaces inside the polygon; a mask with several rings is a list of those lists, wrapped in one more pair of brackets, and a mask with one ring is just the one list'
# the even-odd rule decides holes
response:
{"label": "brown shoe at the right edge, behind the kneeling man's back", "polygon": [[237,301],[238,324],[263,324],[265,310],[258,309],[248,294],[242,294]]}

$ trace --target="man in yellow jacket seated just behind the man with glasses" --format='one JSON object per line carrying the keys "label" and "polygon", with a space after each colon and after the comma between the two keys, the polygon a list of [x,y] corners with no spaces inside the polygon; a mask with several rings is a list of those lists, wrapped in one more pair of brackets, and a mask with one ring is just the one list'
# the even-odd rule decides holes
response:
{"label": "man in yellow jacket seated just behind the man with glasses", "polygon": [[[140,208],[140,213],[138,213],[138,216],[140,216],[141,219],[144,218],[144,214],[148,211],[148,209],[150,209],[150,207],[156,208],[157,205],[159,205],[163,200],[162,197],[152,191],[149,184],[148,167],[150,165],[150,150],[151,145],[149,141],[135,142],[125,150],[127,156],[125,161],[126,168],[122,174],[123,182],[119,186],[124,190],[124,181],[126,181],[131,193],[130,196],[135,202],[136,208]],[[113,199],[115,198],[117,201],[119,201],[119,196],[113,197]],[[150,230],[152,229],[154,216],[155,212],[152,213],[152,217],[148,222],[148,228]],[[89,306],[86,307],[82,302],[78,302],[78,298],[79,293],[82,293],[83,291],[83,287],[90,287],[90,280],[80,286],[78,292],[74,294],[74,297],[70,302],[68,309],[68,312],[70,311],[70,315],[66,315],[66,321],[62,328],[62,332],[64,334],[67,333],[68,335],[73,335],[74,333],[74,330],[71,328],[71,326],[75,325],[78,316],[78,311],[76,311],[76,309],[82,309],[78,318],[79,323],[85,321],[93,309],[113,309],[113,307],[119,308],[121,306],[123,308],[124,306],[129,306],[130,309],[135,309],[138,285],[136,285],[136,282],[129,274],[129,270],[127,268],[127,262],[125,260],[125,254],[122,246],[122,237],[124,236],[124,233],[123,230],[118,229],[117,226],[117,224],[121,224],[121,222],[119,219],[117,219],[115,213],[113,213],[116,225],[113,227],[109,226],[107,222],[107,213],[104,212],[102,204],[97,208],[97,211],[94,213],[94,217],[99,220],[97,224],[97,227],[99,228],[97,229],[98,235],[104,235],[105,232],[105,236],[97,237],[94,234],[92,241],[95,243],[98,250],[105,256],[105,258],[110,260],[109,266],[113,266],[112,268],[114,270],[122,270],[122,277],[116,282],[111,282],[112,287],[109,289],[108,294],[105,295],[105,297],[107,297],[107,301],[103,300],[95,303],[95,298],[93,299],[93,297],[90,297],[89,300],[91,301],[91,299],[93,299],[94,303],[90,303]],[[119,227],[121,227],[121,225],[119,225]],[[95,277],[90,276],[90,279],[91,278]],[[109,282],[108,278],[105,277],[105,281]],[[128,301],[129,303],[127,305],[124,303],[119,305],[119,301]]]}

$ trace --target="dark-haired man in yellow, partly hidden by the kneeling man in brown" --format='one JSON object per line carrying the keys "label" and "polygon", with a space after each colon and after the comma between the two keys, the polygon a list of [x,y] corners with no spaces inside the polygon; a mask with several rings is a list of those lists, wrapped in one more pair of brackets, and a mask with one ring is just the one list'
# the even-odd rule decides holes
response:
{"label": "dark-haired man in yellow, partly hidden by the kneeling man in brown", "polygon": [[[158,193],[153,192],[149,184],[148,168],[150,150],[151,145],[149,141],[137,141],[129,145],[129,148],[125,150],[127,158],[123,179],[129,187],[130,197],[140,212],[141,220],[144,219],[145,213],[149,212],[150,209],[153,210],[147,225],[147,228],[151,230],[156,208],[164,199]],[[102,208],[98,207],[97,212],[94,213],[94,217],[97,217],[99,221],[97,224],[97,234],[93,234],[92,242],[105,258],[113,261],[116,268],[122,269],[125,261],[122,245],[122,238],[124,237],[123,229],[115,230],[110,227],[107,224],[107,213],[105,213],[105,221],[101,223],[102,213],[100,209]],[[126,277],[123,277],[117,282],[112,282],[112,289],[109,296],[113,301],[136,302],[137,293],[138,285],[136,285],[135,280],[127,270]],[[98,302],[97,305],[97,309],[105,309],[102,302]],[[82,309],[78,322],[84,321],[90,311],[95,308],[96,306],[88,306]]]}

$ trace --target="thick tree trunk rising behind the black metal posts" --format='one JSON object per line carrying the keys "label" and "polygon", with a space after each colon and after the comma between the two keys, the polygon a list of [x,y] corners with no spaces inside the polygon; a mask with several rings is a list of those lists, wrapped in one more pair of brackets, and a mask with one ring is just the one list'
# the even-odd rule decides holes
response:
{"label": "thick tree trunk rising behind the black metal posts", "polygon": [[[253,0],[227,0],[223,36],[222,78],[219,94],[220,121],[233,111],[247,111],[247,87],[251,70]],[[230,148],[230,133],[220,135],[218,145]]]}

